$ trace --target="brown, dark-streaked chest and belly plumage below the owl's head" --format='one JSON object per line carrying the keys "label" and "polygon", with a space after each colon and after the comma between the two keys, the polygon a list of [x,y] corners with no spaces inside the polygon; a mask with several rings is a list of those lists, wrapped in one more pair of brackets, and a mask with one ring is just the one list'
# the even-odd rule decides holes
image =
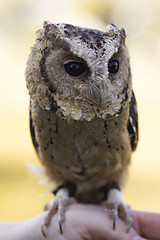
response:
{"label": "brown, dark-streaked chest and belly plumage below the owl's head", "polygon": [[108,116],[91,121],[66,120],[39,107],[35,113],[32,118],[38,155],[52,180],[106,181],[128,164],[127,111],[121,118]]}

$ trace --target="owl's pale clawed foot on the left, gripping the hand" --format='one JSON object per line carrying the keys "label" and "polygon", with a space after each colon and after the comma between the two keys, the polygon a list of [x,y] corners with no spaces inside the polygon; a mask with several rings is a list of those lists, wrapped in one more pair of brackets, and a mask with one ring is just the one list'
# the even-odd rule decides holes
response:
{"label": "owl's pale clawed foot on the left, gripping the hand", "polygon": [[61,188],[57,191],[56,196],[50,204],[45,205],[45,210],[48,210],[48,214],[41,223],[41,231],[44,237],[47,237],[47,227],[49,226],[53,215],[57,212],[59,231],[62,234],[62,222],[64,220],[65,208],[67,205],[75,202],[73,197],[69,197],[69,190],[67,188]]}

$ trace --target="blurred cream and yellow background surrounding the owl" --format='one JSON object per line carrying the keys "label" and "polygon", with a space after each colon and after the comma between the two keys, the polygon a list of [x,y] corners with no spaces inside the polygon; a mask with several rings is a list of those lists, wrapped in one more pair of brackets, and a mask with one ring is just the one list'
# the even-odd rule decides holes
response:
{"label": "blurred cream and yellow background surrounding the owl", "polygon": [[43,21],[105,30],[124,27],[138,101],[140,141],[123,192],[134,209],[160,211],[160,1],[0,0],[0,220],[23,220],[43,210],[26,163],[39,165],[29,134],[24,71]]}

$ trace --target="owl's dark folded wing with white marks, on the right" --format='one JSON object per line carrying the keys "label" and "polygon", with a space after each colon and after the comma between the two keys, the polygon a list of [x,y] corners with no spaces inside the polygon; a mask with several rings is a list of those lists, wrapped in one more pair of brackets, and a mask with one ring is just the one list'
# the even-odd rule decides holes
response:
{"label": "owl's dark folded wing with white marks, on the right", "polygon": [[132,91],[132,97],[130,101],[130,111],[129,111],[129,118],[127,129],[130,138],[130,144],[132,151],[134,151],[137,147],[138,142],[138,112],[137,112],[137,102],[135,98],[135,94]]}

